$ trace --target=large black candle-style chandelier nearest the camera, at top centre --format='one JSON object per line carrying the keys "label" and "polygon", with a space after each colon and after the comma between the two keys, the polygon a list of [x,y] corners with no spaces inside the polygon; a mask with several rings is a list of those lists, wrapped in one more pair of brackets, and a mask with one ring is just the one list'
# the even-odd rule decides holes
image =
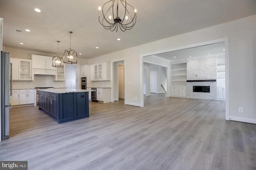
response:
{"label": "large black candle-style chandelier nearest the camera, at top centre", "polygon": [[[119,1],[120,1],[120,3],[119,3]],[[119,11],[118,7],[123,8],[124,11]],[[114,8],[116,10],[114,10]],[[126,2],[126,0],[110,0],[110,1],[106,2],[102,6],[102,15],[103,15],[102,21],[100,20],[100,10],[101,10],[101,7],[99,6],[99,13],[98,13],[99,22],[105,29],[110,29],[110,31],[116,30],[116,32],[117,32],[118,27],[122,31],[126,31],[127,29],[128,30],[132,29],[132,27],[136,23],[137,10],[134,9],[130,4],[128,4]],[[128,10],[130,10],[130,12]],[[116,11],[116,12],[114,13],[114,11]],[[122,14],[118,15],[120,13],[122,13]],[[109,15],[109,17],[108,17],[109,20],[106,18],[106,16],[108,16],[108,15]],[[123,16],[123,17],[120,17],[120,16]]]}

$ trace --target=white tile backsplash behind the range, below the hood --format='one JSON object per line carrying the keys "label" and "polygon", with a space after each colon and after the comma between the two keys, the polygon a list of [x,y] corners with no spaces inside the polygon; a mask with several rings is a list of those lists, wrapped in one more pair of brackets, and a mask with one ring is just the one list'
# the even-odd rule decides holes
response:
{"label": "white tile backsplash behind the range, below the hood", "polygon": [[50,75],[35,75],[33,81],[13,81],[13,89],[28,89],[35,87],[66,87],[65,81],[54,81],[55,76]]}

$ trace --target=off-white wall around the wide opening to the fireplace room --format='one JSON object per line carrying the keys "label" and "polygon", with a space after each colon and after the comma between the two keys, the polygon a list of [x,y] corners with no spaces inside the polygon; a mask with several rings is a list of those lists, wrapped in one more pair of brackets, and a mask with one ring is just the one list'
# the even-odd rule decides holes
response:
{"label": "off-white wall around the wide opening to the fireplace room", "polygon": [[[140,55],[227,37],[230,61],[230,115],[255,119],[256,122],[256,15],[89,59],[89,64],[124,58],[127,68],[126,102],[141,106],[143,69]],[[110,86],[110,82],[102,82],[102,85]],[[238,107],[244,107],[244,112],[238,112]]]}

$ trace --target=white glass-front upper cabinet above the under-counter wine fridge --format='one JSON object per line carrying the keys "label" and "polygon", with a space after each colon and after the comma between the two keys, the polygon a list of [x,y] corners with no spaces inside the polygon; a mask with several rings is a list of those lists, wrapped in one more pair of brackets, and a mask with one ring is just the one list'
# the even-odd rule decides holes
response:
{"label": "white glass-front upper cabinet above the under-counter wine fridge", "polygon": [[91,81],[110,80],[110,62],[91,65]]}

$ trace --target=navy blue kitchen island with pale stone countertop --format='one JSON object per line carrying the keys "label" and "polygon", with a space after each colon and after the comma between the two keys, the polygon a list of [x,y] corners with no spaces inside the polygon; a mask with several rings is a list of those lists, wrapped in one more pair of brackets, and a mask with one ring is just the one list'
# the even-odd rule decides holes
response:
{"label": "navy blue kitchen island with pale stone countertop", "polygon": [[89,117],[88,93],[88,90],[66,88],[38,90],[39,109],[57,123],[83,119]]}

